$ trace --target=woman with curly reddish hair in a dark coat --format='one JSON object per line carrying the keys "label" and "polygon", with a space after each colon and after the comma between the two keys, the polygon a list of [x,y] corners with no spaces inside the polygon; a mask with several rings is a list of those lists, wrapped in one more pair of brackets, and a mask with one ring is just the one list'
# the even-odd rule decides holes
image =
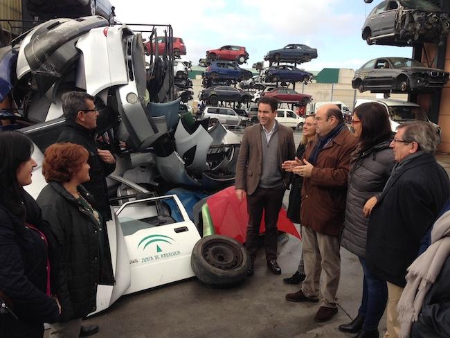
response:
{"label": "woman with curly reddish hair in a dark coat", "polygon": [[105,222],[81,185],[89,181],[88,158],[89,152],[73,143],[56,143],[45,152],[48,185],[37,203],[64,248],[55,288],[62,313],[51,325],[52,337],[77,338],[82,318],[96,310],[98,283],[114,283]]}

